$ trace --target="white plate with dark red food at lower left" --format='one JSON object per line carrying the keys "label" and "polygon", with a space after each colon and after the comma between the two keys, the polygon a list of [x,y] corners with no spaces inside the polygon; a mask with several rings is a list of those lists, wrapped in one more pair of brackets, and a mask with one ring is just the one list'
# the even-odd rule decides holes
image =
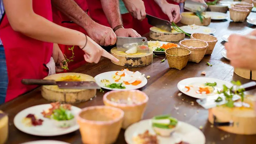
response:
{"label": "white plate with dark red food at lower left", "polygon": [[[15,127],[24,133],[37,136],[64,135],[79,129],[75,116],[81,111],[81,108],[71,106],[69,111],[71,114],[64,112],[65,117],[68,115],[70,120],[74,120],[73,125],[68,127],[58,127],[54,119],[46,118],[45,115],[43,115],[43,112],[49,112],[50,108],[52,108],[51,104],[41,104],[22,110],[14,117]],[[34,120],[32,120],[31,116]]]}

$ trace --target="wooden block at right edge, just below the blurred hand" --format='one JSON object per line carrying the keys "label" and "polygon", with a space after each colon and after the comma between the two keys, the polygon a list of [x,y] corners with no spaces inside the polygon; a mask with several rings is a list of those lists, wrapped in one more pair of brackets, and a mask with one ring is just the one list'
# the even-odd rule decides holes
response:
{"label": "wooden block at right edge, just below the blurred hand", "polygon": [[242,68],[234,68],[234,73],[238,76],[250,80],[256,80],[256,71],[255,70],[247,70]]}

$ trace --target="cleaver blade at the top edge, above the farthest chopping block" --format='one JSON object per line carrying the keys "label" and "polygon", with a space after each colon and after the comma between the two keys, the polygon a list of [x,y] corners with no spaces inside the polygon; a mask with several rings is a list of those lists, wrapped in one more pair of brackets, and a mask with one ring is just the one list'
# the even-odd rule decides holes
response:
{"label": "cleaver blade at the top edge, above the farthest chopping block", "polygon": [[204,12],[207,8],[206,3],[193,2],[192,0],[186,0],[184,4],[184,9],[191,11],[193,13],[196,12]]}

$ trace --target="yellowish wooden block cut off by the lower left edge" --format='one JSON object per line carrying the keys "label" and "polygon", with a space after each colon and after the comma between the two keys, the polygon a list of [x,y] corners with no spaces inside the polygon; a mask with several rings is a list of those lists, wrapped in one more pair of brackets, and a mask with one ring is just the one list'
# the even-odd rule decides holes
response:
{"label": "yellowish wooden block cut off by the lower left edge", "polygon": [[3,112],[0,110],[0,144],[4,144],[8,138],[8,116],[2,115]]}

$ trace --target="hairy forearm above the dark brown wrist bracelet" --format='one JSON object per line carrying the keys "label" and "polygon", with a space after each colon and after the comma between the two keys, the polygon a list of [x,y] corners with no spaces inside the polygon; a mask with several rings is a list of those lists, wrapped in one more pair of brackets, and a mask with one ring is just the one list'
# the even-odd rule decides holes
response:
{"label": "hairy forearm above the dark brown wrist bracelet", "polygon": [[101,5],[112,28],[122,25],[118,0],[101,0]]}

